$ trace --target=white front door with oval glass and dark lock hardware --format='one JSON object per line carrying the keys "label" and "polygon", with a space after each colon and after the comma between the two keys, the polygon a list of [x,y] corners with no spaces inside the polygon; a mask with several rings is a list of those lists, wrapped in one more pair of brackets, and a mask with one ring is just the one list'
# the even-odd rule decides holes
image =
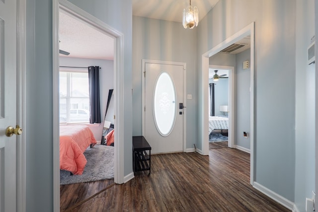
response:
{"label": "white front door with oval glass and dark lock hardware", "polygon": [[145,139],[152,153],[183,151],[182,65],[145,63]]}

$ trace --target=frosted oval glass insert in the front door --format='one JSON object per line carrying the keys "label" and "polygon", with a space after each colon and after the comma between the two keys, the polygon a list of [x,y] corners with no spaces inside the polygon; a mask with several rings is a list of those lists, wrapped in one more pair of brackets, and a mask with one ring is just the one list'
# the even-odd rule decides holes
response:
{"label": "frosted oval glass insert in the front door", "polygon": [[168,136],[176,116],[174,83],[167,72],[159,74],[154,90],[154,119],[161,136]]}

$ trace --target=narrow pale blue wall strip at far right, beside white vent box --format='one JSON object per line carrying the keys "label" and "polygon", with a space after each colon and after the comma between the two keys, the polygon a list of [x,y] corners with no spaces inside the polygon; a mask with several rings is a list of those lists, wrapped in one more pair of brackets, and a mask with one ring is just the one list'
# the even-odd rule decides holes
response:
{"label": "narrow pale blue wall strip at far right, beside white vent box", "polygon": [[305,211],[306,197],[312,198],[312,191],[315,191],[315,131],[317,132],[317,126],[315,127],[314,117],[315,107],[317,107],[315,105],[315,89],[317,90],[315,77],[317,76],[315,64],[307,64],[307,47],[315,35],[313,27],[315,3],[317,1],[314,0],[296,1],[295,204],[300,211]]}

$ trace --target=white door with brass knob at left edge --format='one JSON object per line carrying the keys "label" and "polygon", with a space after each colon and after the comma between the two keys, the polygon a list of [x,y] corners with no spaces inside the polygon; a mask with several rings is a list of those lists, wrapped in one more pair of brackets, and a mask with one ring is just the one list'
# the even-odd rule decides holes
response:
{"label": "white door with brass knob at left edge", "polygon": [[0,212],[16,211],[16,0],[0,0]]}

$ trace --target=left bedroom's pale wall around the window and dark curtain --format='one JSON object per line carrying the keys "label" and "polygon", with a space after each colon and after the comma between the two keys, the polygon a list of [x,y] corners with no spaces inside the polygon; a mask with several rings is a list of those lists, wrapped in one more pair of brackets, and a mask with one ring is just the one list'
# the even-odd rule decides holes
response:
{"label": "left bedroom's pale wall around the window and dark curtain", "polygon": [[[109,89],[114,89],[114,62],[109,60],[93,60],[93,59],[82,59],[82,58],[69,58],[60,57],[60,66],[69,67],[89,67],[99,66],[99,94],[100,94],[100,114],[101,124],[88,125],[94,134],[96,141],[101,140],[101,135],[104,126],[104,118],[106,112],[107,98]],[[110,105],[108,108],[107,115],[114,114],[114,105]],[[111,115],[111,116],[112,116]],[[112,121],[113,120],[108,120]]]}

